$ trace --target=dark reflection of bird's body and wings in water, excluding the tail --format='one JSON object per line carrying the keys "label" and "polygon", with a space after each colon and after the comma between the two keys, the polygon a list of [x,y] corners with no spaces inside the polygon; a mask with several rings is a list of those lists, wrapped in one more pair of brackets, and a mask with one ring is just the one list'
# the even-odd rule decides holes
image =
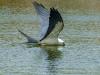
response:
{"label": "dark reflection of bird's body and wings in water, excluding the tail", "polygon": [[58,62],[60,61],[62,57],[62,52],[58,50],[58,47],[56,46],[45,46],[42,47],[42,50],[44,50],[47,53],[47,70],[49,75],[57,75],[58,72]]}

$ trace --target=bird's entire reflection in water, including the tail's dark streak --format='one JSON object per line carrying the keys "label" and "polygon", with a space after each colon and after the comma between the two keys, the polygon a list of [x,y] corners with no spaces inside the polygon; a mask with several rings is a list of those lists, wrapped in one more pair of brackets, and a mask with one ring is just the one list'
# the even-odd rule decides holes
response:
{"label": "bird's entire reflection in water, including the tail's dark streak", "polygon": [[62,58],[62,52],[59,50],[58,46],[37,46],[33,44],[27,44],[27,48],[39,47],[41,52],[46,57],[45,61],[47,73],[46,75],[57,75],[59,61]]}

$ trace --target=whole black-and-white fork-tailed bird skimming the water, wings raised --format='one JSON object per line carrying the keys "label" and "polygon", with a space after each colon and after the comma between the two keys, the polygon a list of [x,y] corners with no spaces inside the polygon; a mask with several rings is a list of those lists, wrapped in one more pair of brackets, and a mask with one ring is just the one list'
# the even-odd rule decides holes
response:
{"label": "whole black-and-white fork-tailed bird skimming the water, wings raised", "polygon": [[54,7],[47,10],[36,1],[33,1],[32,4],[40,18],[40,38],[34,39],[18,29],[27,38],[27,43],[36,43],[43,46],[64,46],[64,41],[58,37],[64,28],[63,18],[59,11]]}

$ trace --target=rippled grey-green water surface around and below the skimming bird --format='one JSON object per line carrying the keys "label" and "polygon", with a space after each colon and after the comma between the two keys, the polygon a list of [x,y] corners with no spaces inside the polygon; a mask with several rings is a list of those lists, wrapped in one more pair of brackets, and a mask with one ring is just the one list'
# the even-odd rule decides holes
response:
{"label": "rippled grey-green water surface around and below the skimming bird", "polygon": [[38,47],[25,44],[17,31],[38,37],[35,12],[0,11],[0,75],[100,75],[99,14],[62,13],[65,27],[60,38],[66,45]]}

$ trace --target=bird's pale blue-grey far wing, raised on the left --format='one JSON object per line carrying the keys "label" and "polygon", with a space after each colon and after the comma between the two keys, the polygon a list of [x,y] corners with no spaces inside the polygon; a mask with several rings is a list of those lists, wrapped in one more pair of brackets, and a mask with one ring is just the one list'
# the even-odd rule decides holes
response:
{"label": "bird's pale blue-grey far wing, raised on the left", "polygon": [[42,39],[49,27],[50,12],[42,4],[39,4],[36,1],[33,1],[33,5],[40,17],[40,39]]}

